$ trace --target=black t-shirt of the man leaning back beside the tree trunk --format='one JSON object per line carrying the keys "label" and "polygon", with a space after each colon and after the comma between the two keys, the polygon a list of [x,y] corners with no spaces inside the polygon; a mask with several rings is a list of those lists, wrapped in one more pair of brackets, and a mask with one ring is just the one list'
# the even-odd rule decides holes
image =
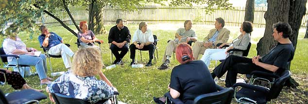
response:
{"label": "black t-shirt of the man leaning back beside the tree trunk", "polygon": [[262,62],[279,67],[279,71],[283,72],[287,69],[287,62],[291,61],[294,56],[294,47],[292,44],[278,43],[269,53],[262,57]]}

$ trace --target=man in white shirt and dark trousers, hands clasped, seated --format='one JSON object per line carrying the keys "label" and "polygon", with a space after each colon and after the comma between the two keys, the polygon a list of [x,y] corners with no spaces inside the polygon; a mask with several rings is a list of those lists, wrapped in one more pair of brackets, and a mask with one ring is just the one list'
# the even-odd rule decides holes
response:
{"label": "man in white shirt and dark trousers, hands clasped, seated", "polygon": [[154,37],[153,33],[150,29],[147,28],[146,22],[141,22],[139,24],[139,29],[137,29],[134,33],[132,42],[133,44],[129,46],[131,51],[131,65],[136,64],[135,63],[135,53],[136,49],[138,50],[149,50],[149,62],[145,66],[152,66],[152,59],[154,57],[154,50],[155,46],[154,43]]}

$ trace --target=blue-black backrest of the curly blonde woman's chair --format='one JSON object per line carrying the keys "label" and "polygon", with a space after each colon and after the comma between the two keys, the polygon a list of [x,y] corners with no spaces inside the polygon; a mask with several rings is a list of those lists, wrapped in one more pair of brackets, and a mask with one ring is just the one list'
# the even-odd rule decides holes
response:
{"label": "blue-black backrest of the curly blonde woman's chair", "polygon": [[[70,98],[69,96],[61,93],[51,93],[51,95],[56,104],[91,104],[90,102],[81,99]],[[103,104],[105,101],[107,100],[103,99],[95,104]]]}

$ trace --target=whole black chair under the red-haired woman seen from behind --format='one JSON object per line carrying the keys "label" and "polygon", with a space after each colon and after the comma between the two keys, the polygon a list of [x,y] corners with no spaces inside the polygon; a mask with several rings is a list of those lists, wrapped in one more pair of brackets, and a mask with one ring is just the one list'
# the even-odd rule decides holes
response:
{"label": "whole black chair under the red-haired woman seen from behind", "polygon": [[[218,89],[217,92],[212,92],[197,96],[194,99],[193,104],[230,104],[234,93],[233,88],[224,89],[219,85],[216,85],[216,88]],[[167,95],[166,98],[167,104],[184,104],[179,99],[175,100],[171,98],[170,93],[165,95]]]}

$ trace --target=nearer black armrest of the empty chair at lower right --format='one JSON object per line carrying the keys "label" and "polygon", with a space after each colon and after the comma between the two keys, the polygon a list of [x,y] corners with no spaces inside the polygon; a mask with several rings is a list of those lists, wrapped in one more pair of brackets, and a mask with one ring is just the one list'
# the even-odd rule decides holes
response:
{"label": "nearer black armrest of the empty chair at lower right", "polygon": [[233,85],[233,88],[236,89],[236,87],[243,87],[246,89],[253,89],[253,90],[257,90],[257,91],[261,91],[264,93],[268,93],[270,92],[270,89],[262,87],[262,86],[257,86],[257,85],[249,85],[249,84],[245,84],[245,83],[236,83]]}

